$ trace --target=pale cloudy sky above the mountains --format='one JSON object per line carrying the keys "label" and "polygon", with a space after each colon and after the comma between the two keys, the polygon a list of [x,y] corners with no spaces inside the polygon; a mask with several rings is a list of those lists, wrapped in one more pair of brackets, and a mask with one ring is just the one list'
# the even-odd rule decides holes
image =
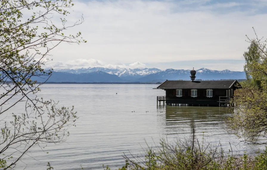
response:
{"label": "pale cloudy sky above the mountains", "polygon": [[[246,35],[267,37],[267,0],[74,0],[87,43],[61,44],[55,68],[157,67],[242,71]],[[74,31],[75,31],[74,30]]]}

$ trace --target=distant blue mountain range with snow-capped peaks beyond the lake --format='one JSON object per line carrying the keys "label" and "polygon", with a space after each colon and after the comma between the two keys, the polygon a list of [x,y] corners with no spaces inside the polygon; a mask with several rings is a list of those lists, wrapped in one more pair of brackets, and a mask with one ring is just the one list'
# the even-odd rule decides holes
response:
{"label": "distant blue mountain range with snow-capped peaks beyond the lake", "polygon": [[[245,72],[230,70],[209,70],[200,68],[196,70],[196,79],[219,80],[219,79],[245,79]],[[190,70],[143,68],[110,69],[103,67],[89,67],[79,69],[61,69],[52,72],[52,76],[46,82],[77,82],[77,83],[96,83],[96,82],[140,82],[155,83],[168,80],[190,80]],[[35,77],[34,80],[44,82],[47,77]]]}

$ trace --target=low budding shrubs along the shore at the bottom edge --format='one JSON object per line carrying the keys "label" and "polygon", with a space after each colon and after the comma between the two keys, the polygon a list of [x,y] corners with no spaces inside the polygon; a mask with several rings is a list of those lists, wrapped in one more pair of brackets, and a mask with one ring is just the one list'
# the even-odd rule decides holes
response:
{"label": "low budding shrubs along the shore at the bottom edge", "polygon": [[[212,146],[202,139],[178,140],[174,144],[162,139],[160,146],[148,147],[142,157],[124,155],[126,164],[118,170],[266,170],[267,147],[255,157],[244,153],[235,157],[224,152],[221,144]],[[230,145],[231,146],[231,145]],[[110,170],[108,166],[104,170]]]}

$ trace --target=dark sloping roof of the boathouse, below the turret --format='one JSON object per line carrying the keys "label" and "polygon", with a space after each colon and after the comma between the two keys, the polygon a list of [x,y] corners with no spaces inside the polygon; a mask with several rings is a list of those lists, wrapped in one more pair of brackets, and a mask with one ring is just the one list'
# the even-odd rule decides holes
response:
{"label": "dark sloping roof of the boathouse, below the turret", "polygon": [[172,81],[166,80],[158,89],[229,89],[237,80],[220,81]]}

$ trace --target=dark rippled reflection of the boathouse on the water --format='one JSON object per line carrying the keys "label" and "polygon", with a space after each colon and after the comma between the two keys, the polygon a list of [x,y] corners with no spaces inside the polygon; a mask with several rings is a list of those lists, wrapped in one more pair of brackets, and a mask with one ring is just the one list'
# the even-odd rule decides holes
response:
{"label": "dark rippled reflection of the boathouse on the water", "polygon": [[166,106],[166,129],[172,134],[209,132],[221,129],[228,116],[226,107]]}

